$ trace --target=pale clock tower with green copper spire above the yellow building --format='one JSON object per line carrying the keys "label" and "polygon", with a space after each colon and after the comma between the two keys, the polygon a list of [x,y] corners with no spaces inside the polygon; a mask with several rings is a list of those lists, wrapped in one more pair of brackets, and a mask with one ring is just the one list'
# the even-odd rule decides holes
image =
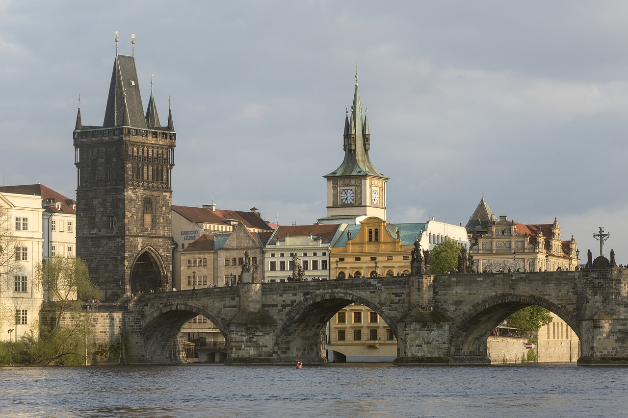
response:
{"label": "pale clock tower with green copper spire above the yellow building", "polygon": [[347,110],[340,167],[324,176],[327,179],[327,217],[320,223],[360,223],[367,217],[386,220],[386,181],[369,159],[371,131],[362,105],[355,73],[355,93],[351,112]]}

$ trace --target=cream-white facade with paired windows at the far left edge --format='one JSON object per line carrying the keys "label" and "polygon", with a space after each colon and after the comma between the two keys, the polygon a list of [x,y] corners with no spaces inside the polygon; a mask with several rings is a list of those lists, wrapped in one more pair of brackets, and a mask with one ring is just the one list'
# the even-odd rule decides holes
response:
{"label": "cream-white facade with paired windows at the far left edge", "polygon": [[35,266],[42,260],[44,209],[40,196],[0,191],[0,211],[0,340],[18,341],[38,333],[43,291]]}

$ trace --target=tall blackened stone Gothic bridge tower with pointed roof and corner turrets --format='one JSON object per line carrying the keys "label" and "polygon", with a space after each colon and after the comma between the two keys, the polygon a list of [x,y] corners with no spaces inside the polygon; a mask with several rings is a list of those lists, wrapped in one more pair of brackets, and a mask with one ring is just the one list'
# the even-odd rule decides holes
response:
{"label": "tall blackened stone Gothic bridge tower with pointed roof and corner turrets", "polygon": [[134,56],[116,51],[104,122],[83,125],[79,102],[73,139],[78,257],[108,301],[165,291],[171,286],[176,132],[170,109],[168,124],[160,124],[152,81],[144,114]]}

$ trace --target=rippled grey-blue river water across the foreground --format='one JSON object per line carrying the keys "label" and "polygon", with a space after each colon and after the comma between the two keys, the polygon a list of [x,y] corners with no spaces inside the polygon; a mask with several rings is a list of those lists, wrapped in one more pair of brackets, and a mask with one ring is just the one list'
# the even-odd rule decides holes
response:
{"label": "rippled grey-blue river water across the foreground", "polygon": [[620,417],[628,368],[0,368],[2,417]]}

